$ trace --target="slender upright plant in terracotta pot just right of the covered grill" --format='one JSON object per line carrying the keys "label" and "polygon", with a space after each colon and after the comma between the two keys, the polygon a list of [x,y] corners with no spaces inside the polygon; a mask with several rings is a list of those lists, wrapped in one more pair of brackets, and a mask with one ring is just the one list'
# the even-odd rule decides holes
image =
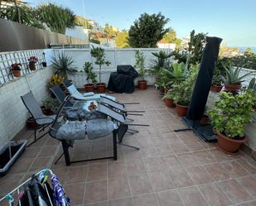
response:
{"label": "slender upright plant in terracotta pot just right of the covered grill", "polygon": [[135,69],[138,69],[138,89],[147,89],[147,81],[145,80],[146,69],[145,69],[145,56],[142,51],[137,50],[135,53],[136,63],[134,65]]}

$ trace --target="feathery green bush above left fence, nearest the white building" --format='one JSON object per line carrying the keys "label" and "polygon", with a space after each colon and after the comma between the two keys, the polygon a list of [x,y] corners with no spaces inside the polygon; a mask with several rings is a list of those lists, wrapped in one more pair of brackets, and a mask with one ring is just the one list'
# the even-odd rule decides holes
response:
{"label": "feathery green bush above left fence, nearest the white building", "polygon": [[51,31],[65,34],[66,28],[75,26],[75,15],[67,7],[60,7],[53,3],[42,4],[36,8],[38,18],[46,23]]}

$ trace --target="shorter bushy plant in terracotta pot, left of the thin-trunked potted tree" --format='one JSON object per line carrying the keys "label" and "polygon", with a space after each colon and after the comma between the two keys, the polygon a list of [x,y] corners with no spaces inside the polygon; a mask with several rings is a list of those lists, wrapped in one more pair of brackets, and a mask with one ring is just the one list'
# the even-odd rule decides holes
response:
{"label": "shorter bushy plant in terracotta pot, left of the thin-trunked potted tree", "polygon": [[96,84],[97,75],[93,71],[93,66],[90,62],[85,62],[84,65],[85,74],[87,75],[87,84],[85,84],[85,92],[94,92],[94,84]]}

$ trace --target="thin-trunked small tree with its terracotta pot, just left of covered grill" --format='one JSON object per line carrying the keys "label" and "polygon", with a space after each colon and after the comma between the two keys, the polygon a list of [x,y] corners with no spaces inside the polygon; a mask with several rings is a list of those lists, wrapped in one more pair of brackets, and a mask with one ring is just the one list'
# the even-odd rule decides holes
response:
{"label": "thin-trunked small tree with its terracotta pot, just left of covered grill", "polygon": [[105,50],[100,47],[94,47],[90,50],[90,55],[95,58],[95,65],[99,65],[99,83],[96,84],[98,93],[105,93],[106,84],[101,82],[102,65],[111,65],[109,60],[106,60]]}

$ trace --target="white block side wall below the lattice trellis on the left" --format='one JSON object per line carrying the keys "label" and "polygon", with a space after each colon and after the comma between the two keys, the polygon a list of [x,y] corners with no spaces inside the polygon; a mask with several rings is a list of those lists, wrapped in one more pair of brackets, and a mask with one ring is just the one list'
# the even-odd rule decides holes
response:
{"label": "white block side wall below the lattice trellis on the left", "polygon": [[53,74],[52,67],[38,69],[0,88],[0,145],[12,139],[26,125],[29,113],[21,96],[30,90],[38,103],[48,96],[46,84]]}

